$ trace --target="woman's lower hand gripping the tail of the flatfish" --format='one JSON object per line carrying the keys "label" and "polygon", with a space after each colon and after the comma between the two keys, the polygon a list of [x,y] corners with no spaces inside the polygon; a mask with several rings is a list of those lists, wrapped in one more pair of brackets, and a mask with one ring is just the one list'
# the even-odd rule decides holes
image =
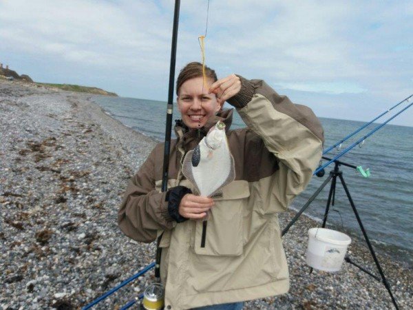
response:
{"label": "woman's lower hand gripping the tail of the flatfish", "polygon": [[207,216],[214,204],[212,198],[186,194],[180,201],[178,211],[184,218],[200,219]]}

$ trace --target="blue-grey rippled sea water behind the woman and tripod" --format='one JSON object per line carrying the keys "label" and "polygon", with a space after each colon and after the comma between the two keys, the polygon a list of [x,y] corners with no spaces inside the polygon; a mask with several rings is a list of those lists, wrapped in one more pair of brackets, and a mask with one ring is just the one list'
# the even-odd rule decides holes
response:
{"label": "blue-grey rippled sea water behind the woman and tripod", "polygon": [[[96,103],[114,118],[156,141],[165,138],[166,103],[145,99],[96,96]],[[173,116],[179,118],[174,105]],[[383,118],[383,121],[387,118]],[[363,125],[359,121],[320,118],[323,124],[326,149]],[[368,121],[368,120],[366,120]],[[371,124],[350,141],[343,149],[370,132],[378,124]],[[235,112],[232,129],[245,127]],[[174,133],[173,133],[174,136]],[[341,149],[342,150],[342,149]],[[340,151],[333,149],[330,158]],[[359,215],[370,240],[387,253],[413,263],[413,127],[385,125],[366,139],[363,147],[355,147],[340,158],[351,165],[369,168],[370,178],[363,178],[354,169],[341,167]],[[326,179],[333,166],[326,168],[323,178],[314,176],[307,189],[293,201],[292,208],[300,209]],[[306,214],[316,220],[324,216],[330,185],[306,209]],[[361,236],[359,225],[348,203],[343,187],[337,182],[335,205],[330,207],[328,224],[332,229]],[[299,225],[299,222],[295,225]],[[294,229],[292,227],[291,229]]]}

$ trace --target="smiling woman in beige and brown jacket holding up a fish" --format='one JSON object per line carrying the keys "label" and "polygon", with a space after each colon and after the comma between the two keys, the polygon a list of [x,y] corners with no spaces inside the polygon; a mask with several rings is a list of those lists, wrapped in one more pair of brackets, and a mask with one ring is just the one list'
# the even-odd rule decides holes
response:
{"label": "smiling woman in beige and brown jacket holding up a fish", "polygon": [[[286,293],[288,267],[277,213],[308,184],[321,158],[323,130],[313,112],[279,96],[264,81],[231,75],[217,80],[189,63],[177,80],[182,120],[171,143],[169,190],[160,192],[163,144],[131,179],[118,212],[120,229],[134,240],[162,234],[165,309],[242,309],[244,300]],[[247,127],[228,130],[233,110]],[[235,161],[235,180],[213,198],[201,197],[180,164],[217,121]],[[209,213],[202,244],[202,218]],[[205,307],[214,305],[212,307]]]}

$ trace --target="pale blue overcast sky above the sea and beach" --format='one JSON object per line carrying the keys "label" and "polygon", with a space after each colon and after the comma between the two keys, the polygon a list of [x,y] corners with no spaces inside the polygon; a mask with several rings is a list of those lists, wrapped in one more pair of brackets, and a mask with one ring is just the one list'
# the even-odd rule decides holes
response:
{"label": "pale blue overcast sky above the sea and beach", "polygon": [[[177,73],[201,60],[206,18],[207,0],[181,1]],[[167,101],[172,21],[170,0],[0,0],[0,62]],[[264,79],[318,116],[370,121],[413,93],[412,0],[211,0],[205,47],[220,77]],[[392,123],[413,126],[413,107]]]}

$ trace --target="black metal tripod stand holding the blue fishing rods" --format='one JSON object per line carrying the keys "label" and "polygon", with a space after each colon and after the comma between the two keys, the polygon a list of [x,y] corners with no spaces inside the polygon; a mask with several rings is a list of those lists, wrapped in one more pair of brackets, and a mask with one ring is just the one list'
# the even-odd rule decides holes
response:
{"label": "black metal tripod stand holding the blue fishing rods", "polygon": [[[325,158],[325,157],[323,157],[323,158],[326,159],[326,160],[330,160],[330,158]],[[301,207],[301,209],[297,212],[297,214],[294,216],[294,218],[293,218],[292,220],[290,220],[290,223],[288,223],[288,225],[286,226],[286,228],[284,228],[284,230],[282,231],[282,236],[284,236],[284,234],[287,233],[288,229],[290,229],[290,227],[294,225],[294,223],[298,220],[299,216],[301,216],[301,214],[307,209],[307,207],[310,205],[310,203],[312,203],[313,200],[315,200],[315,198],[318,196],[318,194],[324,189],[324,187],[326,187],[326,185],[328,184],[328,182],[330,182],[330,180],[331,180],[330,193],[328,194],[326,211],[325,211],[325,213],[324,213],[324,220],[323,220],[323,225],[322,225],[322,227],[326,227],[326,221],[327,221],[327,217],[328,217],[328,211],[330,211],[330,205],[331,205],[331,204],[334,205],[335,190],[336,190],[336,185],[337,185],[337,178],[339,178],[339,180],[341,181],[341,185],[343,185],[344,191],[346,192],[346,196],[347,196],[347,198],[348,198],[348,201],[350,202],[350,205],[351,205],[351,207],[352,207],[352,210],[354,211],[354,215],[355,215],[356,218],[357,218],[357,222],[359,223],[359,226],[360,226],[360,228],[361,228],[361,231],[363,232],[363,236],[364,236],[364,239],[365,239],[366,242],[367,242],[368,249],[370,250],[370,254],[372,255],[372,258],[373,258],[373,260],[374,260],[374,262],[375,262],[375,264],[376,264],[376,266],[377,266],[377,269],[379,270],[379,273],[380,273],[380,276],[381,276],[381,277],[378,277],[378,276],[374,275],[373,273],[371,273],[371,272],[368,271],[367,269],[361,267],[360,265],[357,265],[355,262],[352,262],[352,260],[350,260],[350,258],[349,258],[348,256],[346,256],[345,260],[346,260],[346,262],[350,262],[350,264],[352,264],[352,265],[354,265],[355,267],[361,269],[361,271],[364,271],[364,272],[368,273],[369,276],[372,276],[372,277],[375,278],[376,280],[383,282],[385,288],[388,290],[388,292],[389,292],[389,294],[390,294],[390,297],[392,298],[392,302],[393,302],[393,304],[394,304],[394,307],[395,307],[396,309],[399,309],[399,307],[397,306],[397,303],[396,303],[396,299],[394,298],[394,296],[393,296],[393,294],[392,294],[392,291],[391,291],[391,289],[390,289],[390,285],[389,285],[388,281],[386,280],[386,278],[385,278],[385,276],[384,276],[383,270],[381,269],[379,260],[377,260],[377,256],[376,256],[376,254],[374,253],[374,249],[373,249],[373,247],[372,247],[372,245],[371,245],[371,243],[370,243],[370,240],[369,240],[369,238],[368,238],[368,236],[367,236],[366,230],[364,229],[363,223],[361,223],[361,218],[360,218],[360,216],[359,216],[359,212],[357,211],[357,208],[356,208],[356,206],[354,205],[354,202],[353,202],[353,200],[352,200],[352,198],[351,198],[351,195],[350,195],[350,192],[349,192],[348,187],[347,187],[347,185],[346,185],[346,182],[344,181],[343,172],[341,172],[341,170],[339,169],[339,166],[340,166],[340,165],[343,165],[343,166],[346,166],[346,167],[350,167],[350,168],[353,168],[353,169],[357,169],[357,167],[354,166],[354,165],[349,165],[349,164],[347,164],[347,163],[343,163],[343,162],[341,162],[341,161],[337,161],[337,160],[336,160],[336,161],[335,161],[335,167],[334,167],[334,169],[331,170],[329,176],[326,178],[326,180],[324,180],[324,183],[321,184],[320,187],[315,191],[315,193],[313,194],[313,196],[311,196],[311,197],[308,199],[307,203],[306,203],[303,207]]]}

